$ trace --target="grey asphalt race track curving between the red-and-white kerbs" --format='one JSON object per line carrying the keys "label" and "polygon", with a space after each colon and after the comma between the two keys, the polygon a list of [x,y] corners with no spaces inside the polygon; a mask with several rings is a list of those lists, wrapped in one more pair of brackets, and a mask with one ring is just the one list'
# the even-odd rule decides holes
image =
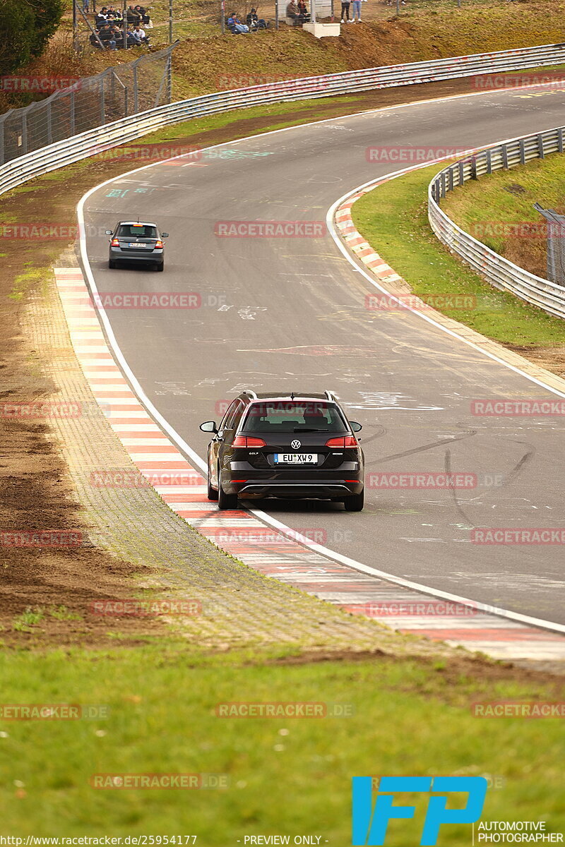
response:
{"label": "grey asphalt race track curving between the red-and-white kerbs", "polygon": [[[418,315],[366,308],[374,290],[330,234],[220,238],[214,226],[324,221],[347,191],[398,168],[368,163],[367,147],[495,144],[561,125],[564,105],[565,91],[501,91],[330,119],[222,145],[197,163],[138,170],[85,204],[101,294],[202,299],[194,309],[108,310],[143,390],[201,457],[207,438],[198,424],[219,420],[217,404],[242,388],[335,390],[363,424],[364,511],[313,501],[261,508],[295,529],[323,530],[327,547],[358,562],[557,623],[565,623],[562,546],[470,542],[473,527],[562,527],[562,419],[481,418],[470,409],[474,399],[555,395]],[[219,156],[228,150],[239,158]],[[164,274],[108,270],[103,230],[137,214],[170,233]],[[446,469],[475,473],[479,484],[457,492],[370,485],[372,473]]]}

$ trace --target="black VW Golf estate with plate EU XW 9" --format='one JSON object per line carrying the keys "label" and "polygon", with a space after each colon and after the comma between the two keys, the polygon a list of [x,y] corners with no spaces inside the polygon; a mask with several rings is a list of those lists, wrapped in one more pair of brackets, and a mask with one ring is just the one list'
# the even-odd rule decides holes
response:
{"label": "black VW Golf estate with plate EU XW 9", "polygon": [[241,391],[208,445],[208,499],[235,509],[237,498],[312,497],[363,509],[363,451],[331,391],[256,394]]}

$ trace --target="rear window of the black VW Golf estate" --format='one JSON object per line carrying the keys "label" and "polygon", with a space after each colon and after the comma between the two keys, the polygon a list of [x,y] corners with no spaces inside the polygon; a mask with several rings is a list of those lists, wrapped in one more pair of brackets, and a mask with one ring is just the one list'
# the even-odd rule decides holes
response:
{"label": "rear window of the black VW Golf estate", "polygon": [[252,403],[242,432],[347,432],[333,403],[324,401],[268,401]]}

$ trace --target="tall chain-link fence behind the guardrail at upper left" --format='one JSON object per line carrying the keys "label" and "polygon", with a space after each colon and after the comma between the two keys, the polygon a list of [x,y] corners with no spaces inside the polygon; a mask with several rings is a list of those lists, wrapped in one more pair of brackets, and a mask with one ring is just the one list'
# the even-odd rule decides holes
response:
{"label": "tall chain-link fence behind the guardrail at upper left", "polygon": [[171,53],[177,43],[78,80],[46,100],[0,115],[0,164],[169,103]]}

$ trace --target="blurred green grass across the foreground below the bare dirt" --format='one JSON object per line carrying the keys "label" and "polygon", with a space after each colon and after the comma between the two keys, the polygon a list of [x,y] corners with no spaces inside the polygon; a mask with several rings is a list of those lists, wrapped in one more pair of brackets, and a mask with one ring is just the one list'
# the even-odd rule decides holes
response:
{"label": "blurred green grass across the foreground below the bare dirt", "polygon": [[[253,656],[257,662],[259,656]],[[263,660],[269,656],[263,656]],[[101,654],[0,656],[3,700],[103,707],[107,716],[2,722],[3,832],[195,834],[225,847],[245,835],[315,833],[350,843],[354,775],[490,775],[486,819],[565,827],[558,720],[479,719],[485,700],[556,700],[540,681],[480,660],[418,662],[195,656],[174,641]],[[217,717],[225,702],[341,704],[348,717]],[[97,713],[99,714],[99,712]],[[97,790],[94,773],[225,774],[225,789]],[[534,788],[535,787],[535,788]],[[387,844],[417,844],[413,822],[391,824]],[[173,823],[174,822],[174,823]],[[450,827],[441,844],[468,844]]]}

